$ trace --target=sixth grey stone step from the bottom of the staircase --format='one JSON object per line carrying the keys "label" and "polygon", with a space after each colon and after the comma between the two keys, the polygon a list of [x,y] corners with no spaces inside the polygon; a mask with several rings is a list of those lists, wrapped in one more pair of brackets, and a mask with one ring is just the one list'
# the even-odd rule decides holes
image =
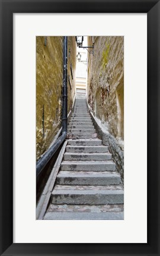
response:
{"label": "sixth grey stone step from the bottom of the staircase", "polygon": [[104,153],[108,152],[107,146],[66,146],[66,152]]}

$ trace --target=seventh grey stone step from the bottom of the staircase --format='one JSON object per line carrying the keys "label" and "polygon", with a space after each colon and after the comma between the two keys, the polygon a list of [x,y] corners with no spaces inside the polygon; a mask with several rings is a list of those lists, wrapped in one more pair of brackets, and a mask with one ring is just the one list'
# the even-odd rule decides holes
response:
{"label": "seventh grey stone step from the bottom of the staircase", "polygon": [[68,140],[69,146],[101,146],[102,141],[99,138],[95,139],[79,139],[79,140]]}

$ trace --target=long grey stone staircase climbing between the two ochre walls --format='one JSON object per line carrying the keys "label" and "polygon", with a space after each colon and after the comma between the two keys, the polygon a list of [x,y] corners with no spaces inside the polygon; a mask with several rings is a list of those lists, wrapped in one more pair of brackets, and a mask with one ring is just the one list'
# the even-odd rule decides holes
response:
{"label": "long grey stone staircase climbing between the two ochre walls", "polygon": [[85,99],[76,99],[68,144],[44,219],[123,219],[121,178],[97,138]]}

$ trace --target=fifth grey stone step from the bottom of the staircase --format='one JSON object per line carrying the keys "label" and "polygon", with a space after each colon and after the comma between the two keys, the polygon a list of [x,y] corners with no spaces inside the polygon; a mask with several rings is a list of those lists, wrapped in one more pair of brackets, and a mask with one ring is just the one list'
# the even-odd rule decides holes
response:
{"label": "fifth grey stone step from the bottom of the staircase", "polygon": [[110,153],[70,153],[64,154],[63,160],[65,161],[105,161],[111,160]]}

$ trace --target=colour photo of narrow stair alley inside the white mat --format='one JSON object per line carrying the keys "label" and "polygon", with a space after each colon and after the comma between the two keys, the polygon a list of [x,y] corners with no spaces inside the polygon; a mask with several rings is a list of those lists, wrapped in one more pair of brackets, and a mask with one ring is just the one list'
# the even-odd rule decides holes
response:
{"label": "colour photo of narrow stair alley inside the white mat", "polygon": [[124,219],[123,36],[36,49],[36,219]]}

